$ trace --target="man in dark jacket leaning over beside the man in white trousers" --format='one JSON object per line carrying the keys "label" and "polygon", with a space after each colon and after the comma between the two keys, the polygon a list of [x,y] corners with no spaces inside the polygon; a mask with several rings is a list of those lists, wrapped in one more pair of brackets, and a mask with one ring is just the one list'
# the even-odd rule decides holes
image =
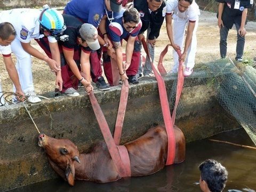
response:
{"label": "man in dark jacket leaning over beside the man in white trousers", "polygon": [[[145,38],[143,33],[147,30],[147,46],[151,61],[154,61],[156,38],[159,36],[160,29],[166,13],[165,0],[134,0],[134,8],[140,13],[142,27],[138,38]],[[140,45],[141,47],[141,45]],[[139,65],[138,76],[142,76],[142,65]],[[151,62],[146,58],[143,67],[143,76],[150,76],[152,73]]]}

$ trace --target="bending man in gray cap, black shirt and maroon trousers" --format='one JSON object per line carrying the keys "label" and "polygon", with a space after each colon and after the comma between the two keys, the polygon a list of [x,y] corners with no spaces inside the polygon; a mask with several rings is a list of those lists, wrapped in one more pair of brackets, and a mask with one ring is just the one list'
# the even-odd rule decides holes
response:
{"label": "bending man in gray cap, black shirt and maroon trousers", "polygon": [[[87,92],[93,90],[90,76],[90,53],[98,50],[97,29],[84,23],[72,15],[63,14],[67,29],[63,36],[68,36],[66,41],[61,38],[58,41],[61,55],[61,76],[63,79],[62,93],[70,97],[77,97],[79,93],[78,82],[81,82]],[[38,44],[45,53],[51,57],[49,42],[47,38],[38,39]]]}

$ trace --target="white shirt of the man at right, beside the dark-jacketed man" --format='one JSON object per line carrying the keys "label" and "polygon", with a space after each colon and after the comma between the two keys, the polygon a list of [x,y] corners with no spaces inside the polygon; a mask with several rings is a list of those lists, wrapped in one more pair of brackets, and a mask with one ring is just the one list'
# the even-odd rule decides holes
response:
{"label": "white shirt of the man at right, beside the dark-jacketed man", "polygon": [[195,1],[188,7],[188,9],[181,13],[178,8],[178,0],[168,0],[166,2],[166,14],[172,14],[180,19],[196,21],[198,20],[198,15],[200,15],[200,10]]}

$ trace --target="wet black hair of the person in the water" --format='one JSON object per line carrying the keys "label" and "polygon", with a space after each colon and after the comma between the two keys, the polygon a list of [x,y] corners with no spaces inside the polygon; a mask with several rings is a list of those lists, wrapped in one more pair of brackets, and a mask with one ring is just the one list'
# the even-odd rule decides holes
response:
{"label": "wet black hair of the person in the water", "polygon": [[214,159],[207,159],[199,165],[201,179],[207,183],[211,192],[221,192],[228,179],[228,172],[224,166]]}

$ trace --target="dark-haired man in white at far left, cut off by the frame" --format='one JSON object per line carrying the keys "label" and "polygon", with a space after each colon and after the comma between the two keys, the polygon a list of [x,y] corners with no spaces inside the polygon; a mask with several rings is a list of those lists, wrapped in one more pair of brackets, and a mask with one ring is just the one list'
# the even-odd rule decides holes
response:
{"label": "dark-haired man in white at far left, cut off by the frame", "polygon": [[[8,71],[10,78],[13,81],[14,86],[16,87],[16,94],[23,95],[24,93],[21,90],[19,76],[15,68],[14,63],[11,58],[11,42],[16,36],[15,29],[9,22],[0,23],[0,53],[3,54],[3,59],[5,67]],[[2,87],[0,84],[0,97],[2,96]],[[4,105],[4,98],[1,98],[0,106]]]}

